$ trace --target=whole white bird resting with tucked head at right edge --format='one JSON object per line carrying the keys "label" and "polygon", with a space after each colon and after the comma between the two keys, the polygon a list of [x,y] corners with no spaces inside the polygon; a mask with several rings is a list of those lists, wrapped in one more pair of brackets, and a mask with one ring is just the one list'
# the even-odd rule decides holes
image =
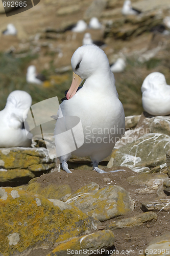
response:
{"label": "whole white bird resting with tucked head at right edge", "polygon": [[170,86],[167,85],[163,74],[149,74],[142,83],[141,92],[145,111],[154,116],[170,114]]}

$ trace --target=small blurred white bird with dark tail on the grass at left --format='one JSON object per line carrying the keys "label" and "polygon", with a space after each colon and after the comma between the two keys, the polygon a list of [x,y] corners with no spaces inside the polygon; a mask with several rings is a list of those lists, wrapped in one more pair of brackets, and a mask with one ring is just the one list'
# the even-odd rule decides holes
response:
{"label": "small blurred white bird with dark tail on the grass at left", "polygon": [[34,65],[31,65],[27,69],[26,80],[29,83],[42,84],[43,81],[45,81],[46,79],[43,75],[37,74],[36,67]]}

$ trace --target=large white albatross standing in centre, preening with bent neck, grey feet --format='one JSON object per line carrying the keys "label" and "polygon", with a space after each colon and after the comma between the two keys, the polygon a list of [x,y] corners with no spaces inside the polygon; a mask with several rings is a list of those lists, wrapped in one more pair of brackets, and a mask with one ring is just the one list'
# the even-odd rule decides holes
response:
{"label": "large white albatross standing in centre, preening with bent neck, grey feet", "polygon": [[[98,168],[98,164],[111,154],[116,141],[125,133],[124,108],[118,99],[114,75],[110,71],[106,54],[94,45],[79,47],[72,55],[71,66],[74,72],[73,79],[66,94],[67,100],[60,104],[55,135],[59,134],[57,129],[60,117],[79,117],[84,143],[72,154],[79,157],[90,156],[94,170],[105,173]],[[77,91],[82,79],[86,80],[83,87]],[[81,130],[77,131],[76,139],[80,138],[81,134]],[[69,147],[67,138],[65,133],[65,140],[61,146],[66,149]],[[60,145],[56,137],[55,144],[57,150]],[[70,157],[71,153],[59,157],[67,173],[70,173],[67,164]]]}

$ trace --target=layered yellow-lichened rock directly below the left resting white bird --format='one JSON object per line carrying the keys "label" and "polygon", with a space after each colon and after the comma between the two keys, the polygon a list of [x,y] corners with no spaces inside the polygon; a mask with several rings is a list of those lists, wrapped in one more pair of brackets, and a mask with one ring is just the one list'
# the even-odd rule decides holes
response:
{"label": "layered yellow-lichened rock directly below the left resting white bird", "polygon": [[1,186],[19,186],[54,167],[46,148],[0,148]]}

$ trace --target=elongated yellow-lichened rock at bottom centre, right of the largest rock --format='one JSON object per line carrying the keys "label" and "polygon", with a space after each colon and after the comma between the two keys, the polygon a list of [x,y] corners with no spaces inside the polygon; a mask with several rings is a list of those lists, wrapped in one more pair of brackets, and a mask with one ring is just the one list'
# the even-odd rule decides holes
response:
{"label": "elongated yellow-lichened rock at bottom centre, right of the largest rock", "polygon": [[48,256],[67,256],[71,251],[71,255],[76,256],[79,250],[84,250],[86,255],[90,255],[90,251],[95,253],[98,250],[101,252],[103,250],[104,252],[106,248],[114,245],[114,241],[114,234],[111,230],[102,230],[62,243],[48,254]]}

